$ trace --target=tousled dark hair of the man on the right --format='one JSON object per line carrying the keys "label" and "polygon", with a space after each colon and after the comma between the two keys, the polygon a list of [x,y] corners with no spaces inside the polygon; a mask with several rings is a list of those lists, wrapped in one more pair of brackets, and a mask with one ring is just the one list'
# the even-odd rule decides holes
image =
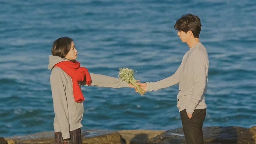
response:
{"label": "tousled dark hair of the man on the right", "polygon": [[192,31],[194,37],[199,38],[201,26],[201,20],[198,16],[186,14],[176,21],[174,29],[185,33],[187,33],[187,31]]}

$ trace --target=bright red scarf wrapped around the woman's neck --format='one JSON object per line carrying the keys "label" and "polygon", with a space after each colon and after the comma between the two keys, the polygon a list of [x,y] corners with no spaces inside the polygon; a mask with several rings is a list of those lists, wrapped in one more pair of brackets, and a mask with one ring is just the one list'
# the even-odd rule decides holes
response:
{"label": "bright red scarf wrapped around the woman's neck", "polygon": [[85,67],[80,67],[80,63],[78,61],[69,62],[62,61],[54,65],[54,67],[60,67],[64,72],[66,72],[71,78],[73,83],[73,94],[75,98],[75,102],[81,103],[85,101],[83,97],[83,93],[81,87],[78,82],[83,81],[86,78],[86,84],[88,86],[91,85],[91,77],[90,73]]}

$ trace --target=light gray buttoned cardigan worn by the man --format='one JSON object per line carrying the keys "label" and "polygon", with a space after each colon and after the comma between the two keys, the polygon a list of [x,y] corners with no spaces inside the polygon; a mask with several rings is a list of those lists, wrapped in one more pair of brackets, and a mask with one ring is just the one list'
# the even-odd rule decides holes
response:
{"label": "light gray buttoned cardigan worn by the man", "polygon": [[147,82],[147,91],[155,91],[179,84],[177,107],[192,114],[195,109],[205,109],[209,60],[205,47],[197,43],[183,56],[177,71],[168,78]]}

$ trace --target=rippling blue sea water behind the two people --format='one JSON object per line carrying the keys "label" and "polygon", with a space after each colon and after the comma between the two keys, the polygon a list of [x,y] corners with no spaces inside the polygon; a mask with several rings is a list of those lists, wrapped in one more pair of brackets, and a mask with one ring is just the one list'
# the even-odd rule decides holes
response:
{"label": "rippling blue sea water behind the two people", "polygon": [[[47,69],[51,45],[71,37],[90,72],[137,71],[142,82],[172,75],[189,50],[173,28],[183,14],[201,18],[209,56],[204,126],[256,125],[256,2],[222,0],[0,1],[0,136],[53,131]],[[83,87],[82,129],[182,127],[178,86],[148,92]]]}

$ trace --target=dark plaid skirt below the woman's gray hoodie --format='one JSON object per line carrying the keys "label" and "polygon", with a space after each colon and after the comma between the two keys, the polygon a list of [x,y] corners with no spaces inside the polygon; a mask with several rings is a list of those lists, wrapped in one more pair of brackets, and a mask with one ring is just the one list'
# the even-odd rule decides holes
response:
{"label": "dark plaid skirt below the woman's gray hoodie", "polygon": [[60,131],[55,132],[55,144],[82,144],[81,128],[69,132],[69,140],[64,140]]}

